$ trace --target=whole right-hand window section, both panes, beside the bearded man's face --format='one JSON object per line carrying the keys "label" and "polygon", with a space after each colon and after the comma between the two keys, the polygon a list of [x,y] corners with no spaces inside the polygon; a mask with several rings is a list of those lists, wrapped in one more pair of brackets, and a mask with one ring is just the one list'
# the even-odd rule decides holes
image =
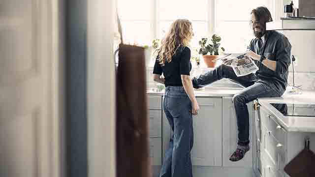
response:
{"label": "whole right-hand window section, both panes, beside the bearded man's face", "polygon": [[[222,47],[231,52],[246,50],[253,38],[250,13],[253,8],[266,6],[273,12],[272,0],[216,0],[215,33],[222,38]],[[269,5],[271,4],[271,5]]]}

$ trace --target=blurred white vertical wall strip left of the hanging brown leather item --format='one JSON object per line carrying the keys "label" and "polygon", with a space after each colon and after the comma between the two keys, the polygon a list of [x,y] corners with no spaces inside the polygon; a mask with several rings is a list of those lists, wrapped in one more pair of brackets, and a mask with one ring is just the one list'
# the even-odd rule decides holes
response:
{"label": "blurred white vertical wall strip left of the hanging brown leather item", "polygon": [[115,177],[114,0],[88,0],[89,177]]}

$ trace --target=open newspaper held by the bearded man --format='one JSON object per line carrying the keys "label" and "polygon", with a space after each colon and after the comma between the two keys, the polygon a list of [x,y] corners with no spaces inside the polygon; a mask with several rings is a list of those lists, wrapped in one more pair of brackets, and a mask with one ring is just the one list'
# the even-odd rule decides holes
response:
{"label": "open newspaper held by the bearded man", "polygon": [[259,68],[246,53],[229,54],[221,58],[223,64],[231,66],[237,77],[256,72]]}

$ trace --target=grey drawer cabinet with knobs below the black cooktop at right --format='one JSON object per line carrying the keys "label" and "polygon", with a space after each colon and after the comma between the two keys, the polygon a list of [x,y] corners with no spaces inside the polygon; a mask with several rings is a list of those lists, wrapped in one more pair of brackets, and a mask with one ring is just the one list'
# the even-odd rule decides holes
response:
{"label": "grey drawer cabinet with knobs below the black cooktop at right", "polygon": [[[315,141],[315,133],[287,131],[276,115],[259,101],[254,102],[254,108],[253,168],[256,176],[289,177],[284,172],[285,165],[304,148],[306,137]],[[311,149],[315,149],[312,144]]]}

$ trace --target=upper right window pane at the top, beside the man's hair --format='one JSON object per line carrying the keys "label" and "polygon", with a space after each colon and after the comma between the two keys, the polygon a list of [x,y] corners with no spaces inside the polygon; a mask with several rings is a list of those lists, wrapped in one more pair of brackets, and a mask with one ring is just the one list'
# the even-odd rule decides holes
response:
{"label": "upper right window pane at the top, beside the man's hair", "polygon": [[[216,20],[249,21],[252,9],[267,6],[269,0],[216,0]],[[270,12],[272,10],[268,7]]]}

